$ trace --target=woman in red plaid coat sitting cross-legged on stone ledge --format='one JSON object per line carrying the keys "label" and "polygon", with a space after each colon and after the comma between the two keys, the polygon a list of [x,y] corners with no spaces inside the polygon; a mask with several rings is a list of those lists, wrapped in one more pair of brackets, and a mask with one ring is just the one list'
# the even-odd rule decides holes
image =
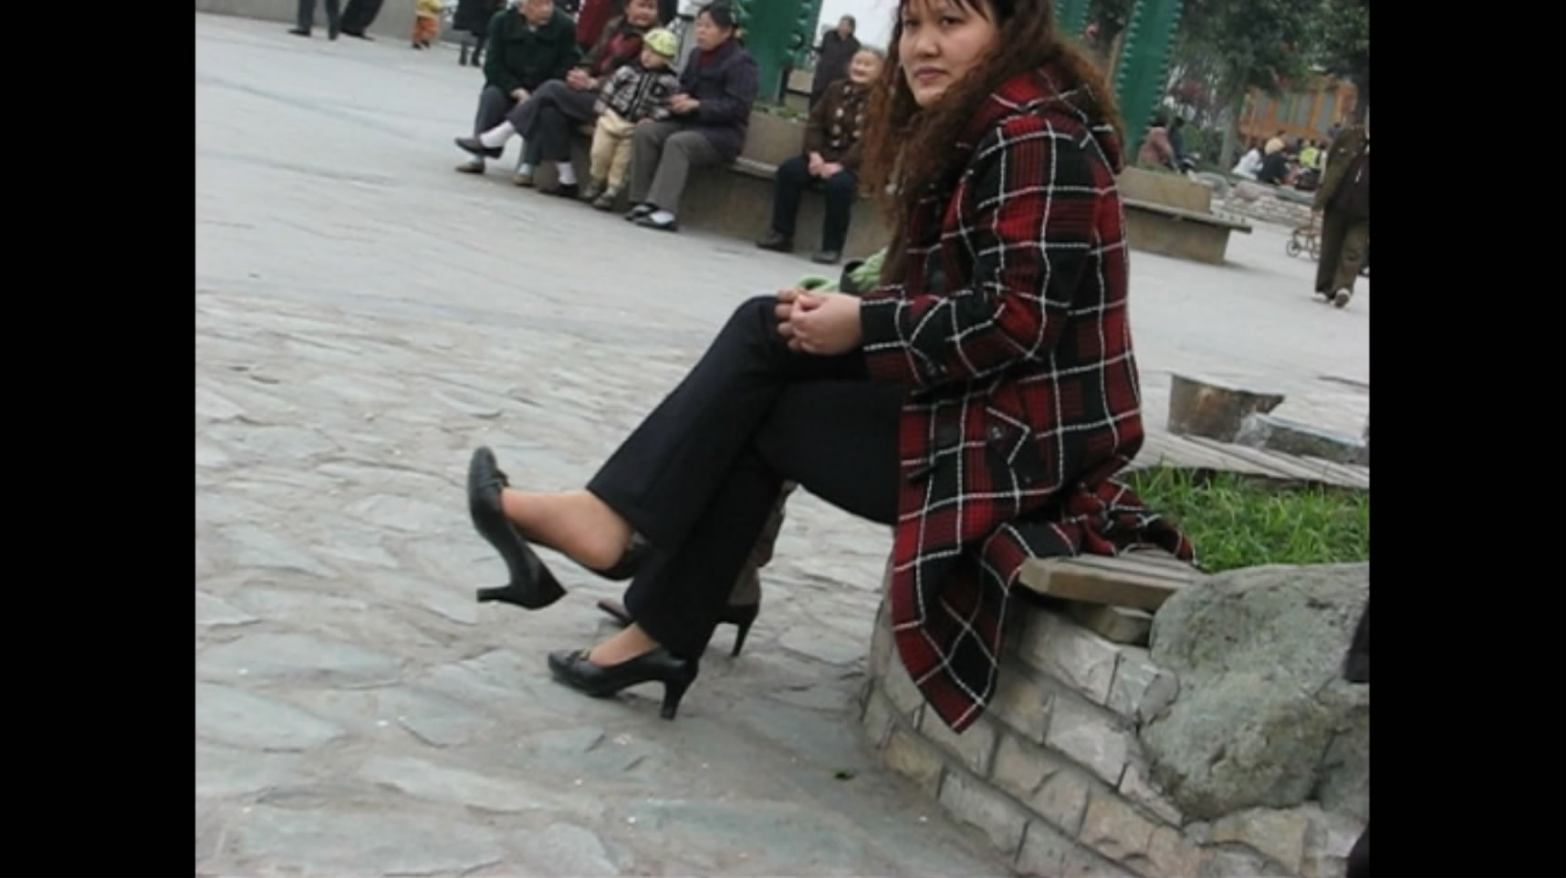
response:
{"label": "woman in red plaid coat sitting cross-legged on stone ledge", "polygon": [[662,682],[673,718],[785,482],[894,526],[897,654],[958,732],[1030,557],[1192,559],[1113,480],[1143,430],[1102,77],[1051,0],[902,0],[893,39],[866,138],[874,191],[899,175],[875,290],[739,305],[586,490],[512,487],[473,454],[470,513],[511,573],[481,601],[564,595],[534,543],[631,579],[633,624],[550,656],[565,685]]}

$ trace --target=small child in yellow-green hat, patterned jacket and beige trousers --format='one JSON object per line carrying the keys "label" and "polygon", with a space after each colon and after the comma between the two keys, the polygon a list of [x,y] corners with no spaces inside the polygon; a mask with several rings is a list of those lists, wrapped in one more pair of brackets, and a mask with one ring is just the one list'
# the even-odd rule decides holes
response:
{"label": "small child in yellow-green hat, patterned jacket and beige trousers", "polygon": [[670,64],[680,52],[673,33],[658,28],[642,38],[642,56],[609,77],[598,95],[598,125],[592,135],[592,167],[583,200],[614,210],[631,164],[631,135],[645,122],[669,117],[669,99],[680,91]]}

